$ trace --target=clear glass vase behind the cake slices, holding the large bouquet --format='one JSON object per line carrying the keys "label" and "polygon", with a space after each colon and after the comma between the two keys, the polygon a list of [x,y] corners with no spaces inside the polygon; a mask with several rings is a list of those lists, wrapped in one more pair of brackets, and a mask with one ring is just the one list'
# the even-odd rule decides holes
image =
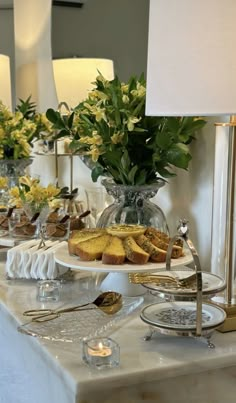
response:
{"label": "clear glass vase behind the cake slices, holding the large bouquet", "polygon": [[164,180],[158,179],[151,185],[126,186],[117,185],[104,179],[102,184],[107,193],[114,198],[114,202],[103,211],[97,227],[103,228],[114,224],[139,224],[155,227],[169,234],[163,211],[150,200],[165,185]]}

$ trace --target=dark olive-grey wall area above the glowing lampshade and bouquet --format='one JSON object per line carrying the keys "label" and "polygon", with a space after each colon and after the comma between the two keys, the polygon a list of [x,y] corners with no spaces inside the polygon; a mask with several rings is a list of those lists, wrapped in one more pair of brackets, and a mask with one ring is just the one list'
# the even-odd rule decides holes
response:
{"label": "dark olive-grey wall area above the glowing lampshade and bouquet", "polygon": [[124,81],[146,73],[148,10],[147,0],[89,0],[82,8],[53,7],[53,58],[111,59]]}

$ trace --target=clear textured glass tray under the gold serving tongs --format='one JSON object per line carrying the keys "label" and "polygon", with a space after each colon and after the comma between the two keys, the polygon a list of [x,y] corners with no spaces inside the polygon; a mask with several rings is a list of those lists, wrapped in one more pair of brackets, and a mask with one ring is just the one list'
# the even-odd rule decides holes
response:
{"label": "clear textured glass tray under the gold serving tongs", "polygon": [[[84,292],[73,304],[64,304],[64,307],[79,305],[94,301],[99,292]],[[86,310],[61,314],[56,319],[48,322],[31,322],[20,325],[18,331],[30,336],[39,337],[51,341],[68,342],[81,341],[84,338],[98,336],[111,329],[118,321],[125,319],[143,303],[143,297],[122,296],[123,305],[119,312],[108,315],[98,309],[92,303]],[[55,309],[61,308],[59,305]]]}

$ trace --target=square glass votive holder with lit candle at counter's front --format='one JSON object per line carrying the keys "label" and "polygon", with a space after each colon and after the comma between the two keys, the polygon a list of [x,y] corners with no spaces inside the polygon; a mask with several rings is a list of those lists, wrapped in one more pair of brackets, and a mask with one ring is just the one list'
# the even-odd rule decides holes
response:
{"label": "square glass votive holder with lit candle at counter's front", "polygon": [[114,368],[120,364],[120,346],[109,337],[83,340],[82,354],[92,368]]}

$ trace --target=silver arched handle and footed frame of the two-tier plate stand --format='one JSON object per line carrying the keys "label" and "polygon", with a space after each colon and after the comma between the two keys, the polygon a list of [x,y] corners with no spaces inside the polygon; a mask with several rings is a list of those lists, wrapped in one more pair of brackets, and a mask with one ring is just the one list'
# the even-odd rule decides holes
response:
{"label": "silver arched handle and footed frame of the two-tier plate stand", "polygon": [[[172,254],[172,249],[174,246],[174,243],[178,239],[182,239],[188,249],[190,250],[192,257],[193,257],[193,263],[194,263],[194,268],[196,271],[196,285],[197,285],[197,292],[196,292],[196,307],[197,307],[197,314],[196,314],[196,332],[189,332],[188,336],[192,337],[202,337],[204,340],[207,341],[207,345],[209,348],[215,348],[215,345],[210,341],[211,338],[211,333],[205,334],[203,336],[202,334],[202,270],[201,270],[201,265],[200,265],[200,260],[198,257],[198,253],[192,243],[192,241],[188,238],[188,221],[186,220],[180,220],[179,226],[178,226],[178,233],[175,235],[173,238],[171,238],[168,249],[167,249],[167,255],[166,255],[166,270],[171,270],[171,254]],[[155,328],[150,326],[149,332],[145,335],[144,340],[150,340],[155,333]],[[161,333],[166,333],[168,332],[161,332]],[[171,332],[174,334],[175,332]],[[175,333],[177,336],[186,336],[186,333],[176,331]]]}

